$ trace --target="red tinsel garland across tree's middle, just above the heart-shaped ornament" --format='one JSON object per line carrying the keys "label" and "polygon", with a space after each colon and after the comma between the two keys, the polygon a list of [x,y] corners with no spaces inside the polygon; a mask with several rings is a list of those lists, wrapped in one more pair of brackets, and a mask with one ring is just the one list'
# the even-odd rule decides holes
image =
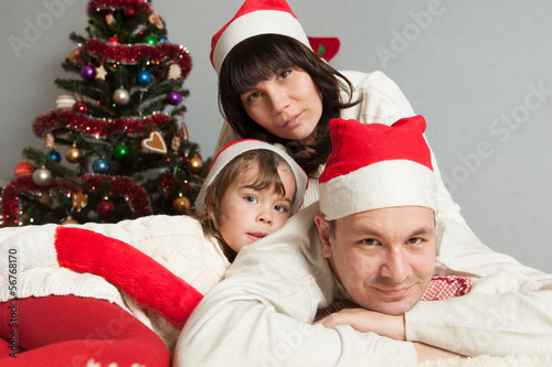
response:
{"label": "red tinsel garland across tree's middle, just above the heart-shaped ornament", "polygon": [[45,137],[49,132],[56,134],[65,129],[78,131],[94,138],[106,139],[115,131],[125,131],[129,136],[145,136],[156,125],[161,132],[171,133],[173,132],[172,129],[164,127],[171,120],[172,117],[163,112],[156,112],[144,118],[126,117],[110,120],[55,109],[39,116],[34,120],[33,132],[36,137]]}

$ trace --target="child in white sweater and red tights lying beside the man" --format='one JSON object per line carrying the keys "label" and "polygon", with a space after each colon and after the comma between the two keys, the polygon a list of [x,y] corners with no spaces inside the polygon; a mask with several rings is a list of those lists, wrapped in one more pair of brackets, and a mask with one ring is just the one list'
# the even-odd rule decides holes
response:
{"label": "child in white sweater and red tights lying beside the man", "polygon": [[198,219],[45,225],[9,237],[0,245],[1,261],[11,255],[14,265],[3,263],[0,278],[0,366],[169,366],[202,293],[235,252],[282,227],[306,184],[283,150],[244,140],[213,160]]}

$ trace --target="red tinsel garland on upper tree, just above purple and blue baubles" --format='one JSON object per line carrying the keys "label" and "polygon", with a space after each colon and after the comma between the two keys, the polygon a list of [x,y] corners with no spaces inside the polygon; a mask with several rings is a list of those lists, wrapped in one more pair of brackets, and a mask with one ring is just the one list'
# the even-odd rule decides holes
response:
{"label": "red tinsel garland on upper tree, just above purple and blue baubles", "polygon": [[[169,42],[159,42],[152,46],[146,43],[114,45],[103,40],[88,40],[81,45],[81,52],[102,57],[108,63],[136,64],[142,58],[152,63],[161,63],[171,60],[182,68],[183,79],[192,68],[192,58],[188,50]],[[84,66],[81,55],[76,56],[74,62],[77,66]]]}

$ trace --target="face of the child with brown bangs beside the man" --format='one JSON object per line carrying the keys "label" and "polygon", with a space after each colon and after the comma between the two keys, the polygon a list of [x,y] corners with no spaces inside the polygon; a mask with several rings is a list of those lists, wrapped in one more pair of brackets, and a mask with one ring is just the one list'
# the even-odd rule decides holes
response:
{"label": "face of the child with brown bangs beside the man", "polygon": [[255,190],[251,186],[258,174],[256,165],[244,171],[224,193],[220,203],[219,229],[234,251],[276,231],[291,215],[295,177],[287,168],[278,168],[286,196],[273,187]]}

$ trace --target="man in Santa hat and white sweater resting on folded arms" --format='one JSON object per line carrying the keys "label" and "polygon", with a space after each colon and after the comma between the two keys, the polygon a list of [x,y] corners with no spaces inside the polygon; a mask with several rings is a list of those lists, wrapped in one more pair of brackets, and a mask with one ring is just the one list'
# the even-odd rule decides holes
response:
{"label": "man in Santa hat and white sweater resting on folded arms", "polygon": [[[420,116],[392,127],[331,121],[333,149],[319,179],[319,205],[242,250],[184,325],[176,365],[389,366],[455,354],[550,356],[552,277],[492,252],[457,222],[435,215],[424,130]],[[418,302],[432,274],[470,276],[481,287]],[[311,324],[333,300],[372,311]]]}

